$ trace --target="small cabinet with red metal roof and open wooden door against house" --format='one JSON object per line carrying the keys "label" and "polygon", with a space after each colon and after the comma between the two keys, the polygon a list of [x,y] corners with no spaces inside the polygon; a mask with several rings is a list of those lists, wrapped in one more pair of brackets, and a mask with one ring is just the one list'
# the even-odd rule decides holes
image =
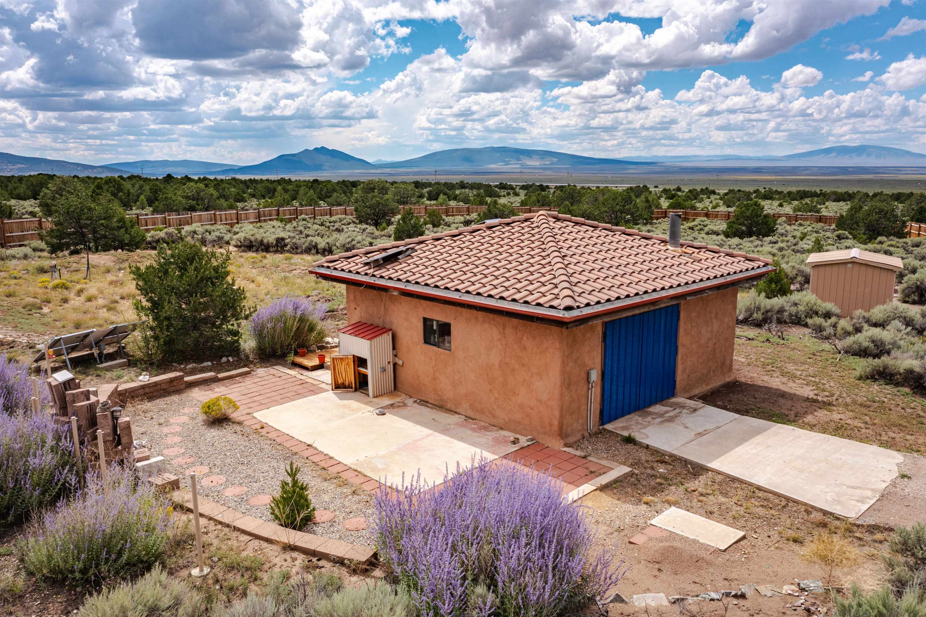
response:
{"label": "small cabinet with red metal roof and open wooden door against house", "polygon": [[[391,328],[355,321],[338,331],[338,353],[353,356],[354,388],[363,390],[366,384],[369,397],[382,397],[395,389],[393,370],[393,331]],[[335,358],[332,358],[332,389]],[[349,370],[349,369],[348,369]],[[346,380],[349,381],[349,380]]]}

